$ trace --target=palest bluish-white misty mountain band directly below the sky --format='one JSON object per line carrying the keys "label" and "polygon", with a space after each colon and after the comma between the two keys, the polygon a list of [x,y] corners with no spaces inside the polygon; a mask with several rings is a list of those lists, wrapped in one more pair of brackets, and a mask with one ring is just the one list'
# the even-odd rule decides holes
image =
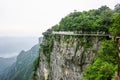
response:
{"label": "palest bluish-white misty mountain band directly below the sky", "polygon": [[38,43],[37,37],[1,37],[0,57],[12,57],[18,55],[21,50],[29,50]]}

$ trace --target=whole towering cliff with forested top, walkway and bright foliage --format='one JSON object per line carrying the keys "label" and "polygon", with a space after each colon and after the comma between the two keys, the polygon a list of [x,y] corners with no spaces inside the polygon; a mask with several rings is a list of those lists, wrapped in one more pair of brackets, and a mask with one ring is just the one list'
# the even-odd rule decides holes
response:
{"label": "whole towering cliff with forested top, walkway and bright foliage", "polygon": [[43,33],[34,80],[112,79],[117,50],[109,34],[116,30],[111,28],[116,15],[107,6],[76,11],[48,29]]}

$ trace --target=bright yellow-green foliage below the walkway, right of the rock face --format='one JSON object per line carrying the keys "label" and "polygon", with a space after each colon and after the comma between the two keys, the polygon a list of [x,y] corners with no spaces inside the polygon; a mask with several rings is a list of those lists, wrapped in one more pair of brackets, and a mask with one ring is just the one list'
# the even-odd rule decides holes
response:
{"label": "bright yellow-green foliage below the walkway, right of the rock face", "polygon": [[99,54],[85,74],[85,80],[111,80],[117,71],[117,45],[112,40],[102,42]]}

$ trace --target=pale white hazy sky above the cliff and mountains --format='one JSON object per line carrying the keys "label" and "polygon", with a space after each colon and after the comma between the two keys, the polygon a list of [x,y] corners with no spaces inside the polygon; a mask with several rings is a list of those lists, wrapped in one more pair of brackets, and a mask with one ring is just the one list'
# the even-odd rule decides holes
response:
{"label": "pale white hazy sky above the cliff and mountains", "polygon": [[37,36],[74,10],[114,8],[120,0],[0,0],[0,36]]}

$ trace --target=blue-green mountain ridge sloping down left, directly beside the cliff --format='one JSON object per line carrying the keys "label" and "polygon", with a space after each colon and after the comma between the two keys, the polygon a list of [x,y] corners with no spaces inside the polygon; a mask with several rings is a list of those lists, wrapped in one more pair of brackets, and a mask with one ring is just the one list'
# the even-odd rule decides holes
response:
{"label": "blue-green mountain ridge sloping down left, directly beside the cliff", "polygon": [[33,46],[28,51],[21,51],[17,61],[4,71],[0,80],[30,80],[34,69],[33,62],[38,57],[39,45]]}

